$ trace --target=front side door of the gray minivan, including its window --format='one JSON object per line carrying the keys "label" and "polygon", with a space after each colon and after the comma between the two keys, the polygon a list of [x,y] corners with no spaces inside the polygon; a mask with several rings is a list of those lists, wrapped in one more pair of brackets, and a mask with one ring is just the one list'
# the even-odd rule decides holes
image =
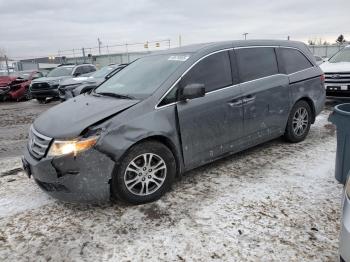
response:
{"label": "front side door of the gray minivan, including its window", "polygon": [[241,90],[230,55],[233,51],[224,50],[203,58],[180,81],[180,88],[204,84],[206,91],[176,105],[186,168],[235,151],[242,137]]}

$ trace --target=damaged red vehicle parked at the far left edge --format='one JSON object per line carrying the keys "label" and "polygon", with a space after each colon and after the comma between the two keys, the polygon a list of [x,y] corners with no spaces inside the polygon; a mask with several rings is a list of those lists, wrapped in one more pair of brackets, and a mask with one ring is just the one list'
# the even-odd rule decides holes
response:
{"label": "damaged red vehicle parked at the far left edge", "polygon": [[13,72],[7,76],[0,76],[0,101],[29,100],[29,85],[33,79],[43,77],[39,71]]}

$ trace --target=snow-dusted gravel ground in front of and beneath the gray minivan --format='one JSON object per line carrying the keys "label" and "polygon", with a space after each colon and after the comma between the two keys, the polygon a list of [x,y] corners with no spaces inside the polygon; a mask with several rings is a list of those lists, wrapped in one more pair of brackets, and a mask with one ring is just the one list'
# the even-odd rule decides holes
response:
{"label": "snow-dusted gravel ground in front of and beneath the gray minivan", "polygon": [[337,261],[329,113],[302,143],[277,139],[196,169],[141,206],[58,202],[6,173],[18,157],[0,158],[0,261]]}

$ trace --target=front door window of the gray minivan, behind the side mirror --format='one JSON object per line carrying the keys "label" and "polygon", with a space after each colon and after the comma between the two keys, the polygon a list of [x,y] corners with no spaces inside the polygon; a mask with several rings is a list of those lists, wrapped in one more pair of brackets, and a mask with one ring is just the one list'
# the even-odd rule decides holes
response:
{"label": "front door window of the gray minivan, behind the side mirror", "polygon": [[212,54],[198,62],[181,80],[181,86],[204,84],[210,92],[232,85],[231,63],[228,51]]}

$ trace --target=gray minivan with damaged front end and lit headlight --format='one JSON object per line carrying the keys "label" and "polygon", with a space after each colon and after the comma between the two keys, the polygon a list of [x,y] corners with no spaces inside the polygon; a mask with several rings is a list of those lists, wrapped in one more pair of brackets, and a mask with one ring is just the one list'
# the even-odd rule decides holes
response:
{"label": "gray minivan with damaged front end and lit headlight", "polygon": [[23,165],[64,201],[154,201],[174,178],[284,136],[299,142],[325,102],[305,44],[228,41],[140,58],[30,128]]}

